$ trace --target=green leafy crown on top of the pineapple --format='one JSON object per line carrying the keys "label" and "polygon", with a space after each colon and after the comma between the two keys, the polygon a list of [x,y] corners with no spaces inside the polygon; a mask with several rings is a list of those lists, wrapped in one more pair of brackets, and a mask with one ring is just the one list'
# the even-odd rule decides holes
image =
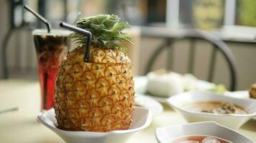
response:
{"label": "green leafy crown on top of the pineapple", "polygon": [[[126,53],[127,48],[122,41],[132,43],[132,37],[124,34],[122,30],[131,28],[127,21],[119,22],[119,16],[114,14],[100,14],[89,16],[76,21],[76,26],[91,32],[91,46],[104,49],[119,49]],[[71,37],[79,46],[86,45],[86,36],[83,34],[73,33]]]}

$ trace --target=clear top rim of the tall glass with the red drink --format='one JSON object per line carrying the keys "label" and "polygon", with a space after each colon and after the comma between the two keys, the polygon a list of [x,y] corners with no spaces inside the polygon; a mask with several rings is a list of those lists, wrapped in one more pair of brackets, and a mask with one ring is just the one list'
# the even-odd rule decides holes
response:
{"label": "clear top rim of the tall glass with the red drink", "polygon": [[68,36],[72,31],[66,29],[51,29],[50,33],[48,33],[47,29],[34,29],[32,31],[32,35],[60,35],[60,36]]}

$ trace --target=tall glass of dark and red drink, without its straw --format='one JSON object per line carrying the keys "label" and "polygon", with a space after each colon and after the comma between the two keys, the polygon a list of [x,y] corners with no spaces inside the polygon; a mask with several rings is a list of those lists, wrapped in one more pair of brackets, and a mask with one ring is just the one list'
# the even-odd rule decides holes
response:
{"label": "tall glass of dark and red drink, without its straw", "polygon": [[37,65],[41,90],[41,109],[53,107],[55,77],[58,65],[70,46],[70,31],[63,29],[35,29],[32,35],[37,52]]}

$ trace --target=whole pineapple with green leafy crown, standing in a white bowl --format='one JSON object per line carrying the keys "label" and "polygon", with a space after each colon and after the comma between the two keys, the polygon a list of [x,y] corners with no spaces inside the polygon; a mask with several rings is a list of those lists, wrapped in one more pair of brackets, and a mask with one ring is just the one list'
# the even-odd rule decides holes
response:
{"label": "whole pineapple with green leafy crown, standing in a white bowl", "polygon": [[90,59],[83,61],[86,36],[74,33],[76,47],[59,66],[55,85],[55,116],[60,129],[109,132],[128,129],[134,111],[131,61],[122,41],[130,25],[116,15],[80,19],[76,26],[91,31]]}

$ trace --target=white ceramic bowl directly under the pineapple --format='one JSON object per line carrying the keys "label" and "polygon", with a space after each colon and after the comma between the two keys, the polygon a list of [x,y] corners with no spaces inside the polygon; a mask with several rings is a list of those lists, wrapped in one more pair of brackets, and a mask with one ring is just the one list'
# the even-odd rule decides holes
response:
{"label": "white ceramic bowl directly under the pineapple", "polygon": [[56,127],[56,119],[54,109],[38,116],[42,124],[58,134],[65,142],[72,143],[109,143],[109,142],[125,142],[134,133],[148,127],[152,121],[152,114],[149,109],[135,107],[132,116],[132,126],[127,130],[118,130],[112,132],[71,132],[58,129]]}

